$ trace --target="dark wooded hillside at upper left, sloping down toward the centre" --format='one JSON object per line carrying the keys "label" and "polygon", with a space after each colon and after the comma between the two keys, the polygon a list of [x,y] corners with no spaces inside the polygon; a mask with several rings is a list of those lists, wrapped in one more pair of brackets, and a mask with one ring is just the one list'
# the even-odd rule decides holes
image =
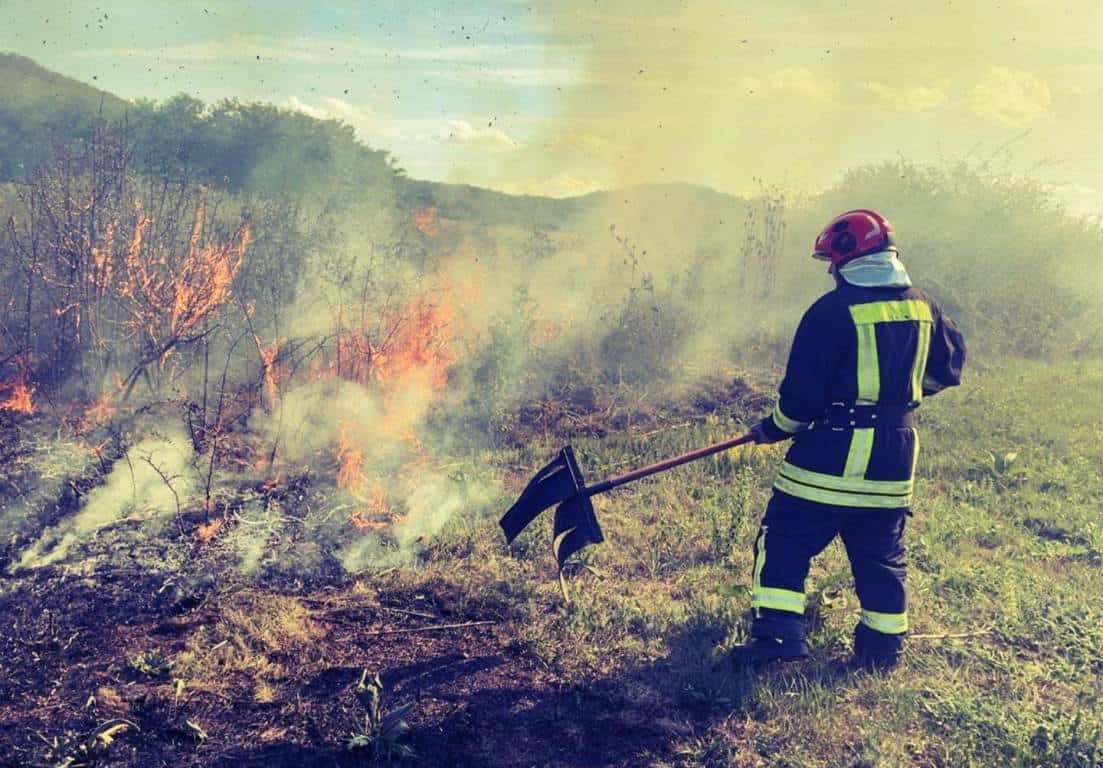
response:
{"label": "dark wooded hillside at upper left, sloping down toward the centre", "polygon": [[399,173],[351,127],[267,104],[205,105],[179,95],[130,104],[30,58],[0,56],[0,181],[24,178],[97,118],[125,119],[132,158],[150,175],[184,173],[212,186],[320,201],[386,188]]}

